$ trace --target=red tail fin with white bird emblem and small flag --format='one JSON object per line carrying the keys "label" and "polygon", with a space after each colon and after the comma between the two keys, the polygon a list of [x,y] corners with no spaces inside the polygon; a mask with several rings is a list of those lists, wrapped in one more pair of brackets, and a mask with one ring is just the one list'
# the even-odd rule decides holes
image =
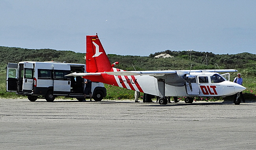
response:
{"label": "red tail fin with white bird emblem and small flag", "polygon": [[86,36],[86,71],[90,73],[111,71],[112,66],[98,38],[98,35]]}

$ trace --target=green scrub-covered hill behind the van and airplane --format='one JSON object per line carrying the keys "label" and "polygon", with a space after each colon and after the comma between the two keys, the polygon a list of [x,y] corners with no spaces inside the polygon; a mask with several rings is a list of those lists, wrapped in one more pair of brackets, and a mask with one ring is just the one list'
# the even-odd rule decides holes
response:
{"label": "green scrub-covered hill behind the van and airplane", "polygon": [[[161,53],[167,53],[173,58],[154,58]],[[207,55],[207,57],[206,57]],[[85,53],[75,53],[73,51],[57,51],[54,49],[24,49],[10,48],[0,46],[0,97],[10,95],[5,92],[5,73],[8,62],[18,63],[20,61],[59,61],[68,63],[85,64]],[[244,86],[248,89],[250,99],[255,99],[256,95],[256,55],[251,53],[238,53],[235,55],[219,55],[209,52],[192,51],[189,57],[188,51],[161,51],[150,54],[147,57],[132,55],[115,55],[108,54],[111,63],[116,61],[119,65],[116,68],[123,70],[189,70],[191,69],[236,69],[242,73]],[[134,66],[134,67],[133,67]],[[231,74],[231,79],[236,77],[236,73]],[[126,89],[118,87],[108,87],[109,93],[115,93],[116,90],[125,90],[121,92],[131,95],[132,91],[127,92]],[[120,93],[120,92],[119,92]],[[1,96],[2,95],[2,96]],[[121,97],[120,94],[111,94],[109,98]],[[15,96],[12,95],[12,96]],[[8,97],[8,96],[7,96]],[[124,97],[124,96],[122,96]],[[130,97],[130,96],[127,96]]]}

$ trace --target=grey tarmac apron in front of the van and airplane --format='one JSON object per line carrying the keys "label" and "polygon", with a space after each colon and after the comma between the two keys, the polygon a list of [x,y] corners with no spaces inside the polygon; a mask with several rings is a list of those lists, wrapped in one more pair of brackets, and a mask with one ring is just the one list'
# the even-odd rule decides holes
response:
{"label": "grey tarmac apron in front of the van and airplane", "polygon": [[256,103],[0,99],[2,150],[256,149]]}

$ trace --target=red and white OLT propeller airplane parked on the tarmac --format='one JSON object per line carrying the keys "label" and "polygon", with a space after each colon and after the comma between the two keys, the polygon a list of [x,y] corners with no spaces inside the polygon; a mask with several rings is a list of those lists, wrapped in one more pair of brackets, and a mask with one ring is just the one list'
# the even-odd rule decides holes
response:
{"label": "red and white OLT propeller airplane parked on the tarmac", "polygon": [[[163,70],[163,71],[124,71],[111,65],[98,35],[86,36],[86,71],[67,76],[82,76],[95,82],[103,82],[134,91],[159,96],[159,104],[167,104],[166,97],[225,97],[234,95],[246,88],[229,80],[229,73],[237,70]],[[228,80],[219,73],[226,73]],[[234,101],[235,102],[235,101]],[[240,101],[241,102],[241,101]],[[235,104],[240,104],[236,101]]]}

